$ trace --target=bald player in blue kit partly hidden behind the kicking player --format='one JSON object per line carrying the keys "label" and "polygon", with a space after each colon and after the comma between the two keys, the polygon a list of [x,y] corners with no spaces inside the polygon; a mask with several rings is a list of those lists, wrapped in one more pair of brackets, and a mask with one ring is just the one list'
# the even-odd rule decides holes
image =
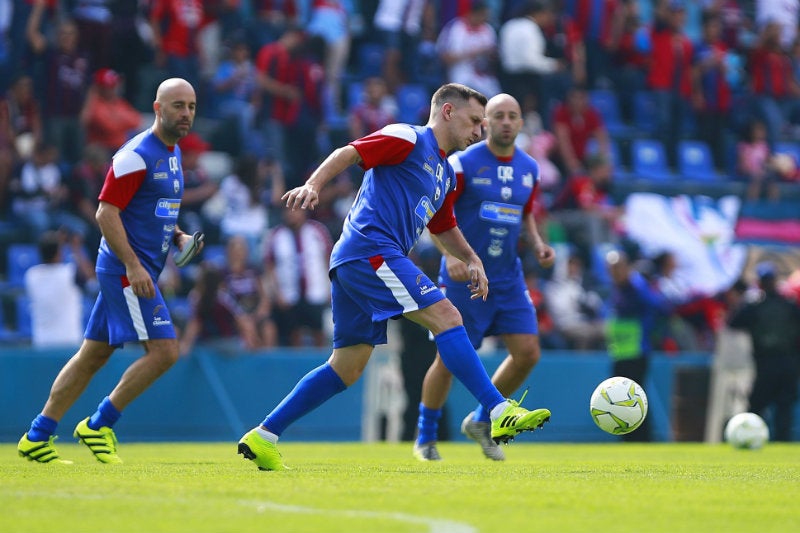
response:
{"label": "bald player in blue kit partly hidden behind the kicking player", "polygon": [[[492,335],[499,335],[508,348],[509,355],[492,376],[492,382],[509,396],[522,385],[540,356],[536,309],[517,254],[522,230],[541,266],[552,267],[555,252],[542,239],[533,218],[539,165],[514,144],[522,128],[519,103],[508,94],[499,94],[486,104],[486,119],[486,140],[450,156],[457,185],[445,198],[442,212],[452,212],[454,216],[437,231],[458,224],[481,258],[491,292],[485,302],[471,298],[464,283],[468,279],[464,264],[442,246],[439,284],[461,312],[476,349],[484,337]],[[414,443],[414,456],[420,460],[441,459],[436,449],[437,426],[452,381],[443,358],[436,357],[422,385]],[[505,459],[503,450],[492,439],[489,412],[484,406],[479,405],[467,415],[461,431],[481,445],[486,457]]]}

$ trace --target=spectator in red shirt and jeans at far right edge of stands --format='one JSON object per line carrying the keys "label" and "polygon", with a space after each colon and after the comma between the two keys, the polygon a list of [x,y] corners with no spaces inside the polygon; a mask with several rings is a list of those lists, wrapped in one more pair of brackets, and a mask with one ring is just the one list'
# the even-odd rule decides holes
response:
{"label": "spectator in red shirt and jeans at far right edge of stands", "polygon": [[755,112],[767,126],[770,147],[800,119],[800,85],[792,61],[781,47],[781,25],[769,22],[750,56],[749,71]]}

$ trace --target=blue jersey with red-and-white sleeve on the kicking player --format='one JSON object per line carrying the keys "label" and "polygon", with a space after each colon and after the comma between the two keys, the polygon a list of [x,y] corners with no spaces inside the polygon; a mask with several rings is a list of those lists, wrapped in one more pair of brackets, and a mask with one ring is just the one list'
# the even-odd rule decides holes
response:
{"label": "blue jersey with red-and-white sleeve on the kicking player", "polygon": [[455,187],[455,174],[426,126],[390,124],[350,143],[367,170],[330,268],[375,256],[406,256]]}

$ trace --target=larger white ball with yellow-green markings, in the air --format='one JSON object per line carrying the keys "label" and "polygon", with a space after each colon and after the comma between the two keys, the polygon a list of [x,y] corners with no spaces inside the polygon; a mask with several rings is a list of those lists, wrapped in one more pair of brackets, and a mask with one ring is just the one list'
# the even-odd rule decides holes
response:
{"label": "larger white ball with yellow-green markings, in the air", "polygon": [[615,376],[597,386],[589,409],[597,427],[612,435],[625,435],[644,422],[647,395],[632,379]]}

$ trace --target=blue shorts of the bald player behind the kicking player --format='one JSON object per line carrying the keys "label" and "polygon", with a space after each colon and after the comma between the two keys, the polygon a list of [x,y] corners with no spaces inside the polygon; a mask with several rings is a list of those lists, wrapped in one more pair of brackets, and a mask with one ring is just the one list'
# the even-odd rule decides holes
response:
{"label": "blue shorts of the bald player behind the kicking player", "polygon": [[492,285],[490,282],[485,302],[480,298],[470,299],[466,283],[451,284],[442,290],[461,312],[464,328],[475,349],[480,348],[484,337],[492,335],[539,334],[536,308],[522,275],[514,283]]}

